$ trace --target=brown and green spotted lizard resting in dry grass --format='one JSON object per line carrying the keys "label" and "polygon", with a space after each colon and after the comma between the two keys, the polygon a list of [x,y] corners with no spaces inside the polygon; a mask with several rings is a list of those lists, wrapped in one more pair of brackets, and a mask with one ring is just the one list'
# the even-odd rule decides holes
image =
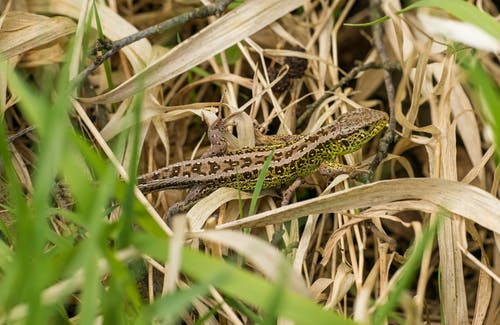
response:
{"label": "brown and green spotted lizard resting in dry grass", "polygon": [[226,152],[227,144],[222,140],[223,123],[215,122],[217,125],[209,129],[212,150],[201,158],[177,162],[143,174],[138,177],[137,186],[144,194],[190,188],[184,201],[170,207],[165,217],[169,219],[188,210],[219,187],[253,190],[270,154],[273,156],[263,189],[290,184],[318,170],[337,174],[339,171],[352,171],[353,167],[337,163],[335,158],[360,149],[382,131],[387,122],[385,112],[358,108],[340,115],[311,134],[285,136],[284,141],[279,141],[278,136],[275,144],[229,152]]}

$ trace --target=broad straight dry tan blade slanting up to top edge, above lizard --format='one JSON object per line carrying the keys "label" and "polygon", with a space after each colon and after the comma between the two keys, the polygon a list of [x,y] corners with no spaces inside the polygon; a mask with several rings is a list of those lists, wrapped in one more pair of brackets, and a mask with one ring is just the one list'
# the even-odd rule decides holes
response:
{"label": "broad straight dry tan blade slanting up to top edge, above lizard", "polygon": [[180,43],[114,90],[100,96],[82,98],[82,101],[113,103],[140,91],[137,80],[141,80],[143,88],[151,88],[166,82],[258,32],[304,2],[304,0],[246,1],[198,34]]}

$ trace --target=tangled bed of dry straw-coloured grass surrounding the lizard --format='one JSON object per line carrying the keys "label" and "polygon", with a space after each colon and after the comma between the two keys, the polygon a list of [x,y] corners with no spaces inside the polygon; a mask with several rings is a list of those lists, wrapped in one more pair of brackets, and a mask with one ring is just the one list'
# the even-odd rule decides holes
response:
{"label": "tangled bed of dry straw-coloured grass surrounding the lizard", "polygon": [[[0,7],[10,3],[10,11],[0,17],[0,52],[9,64],[39,85],[40,91],[50,89],[43,83],[44,71],[57,69],[63,60],[70,60],[70,74],[76,76],[79,57],[86,51],[81,42],[83,17],[90,8],[82,5],[84,1],[3,2]],[[98,8],[103,33],[110,40],[133,33],[133,24],[144,28],[199,6],[189,0],[108,2],[109,7]],[[153,281],[151,275],[153,268],[165,270],[163,262],[146,257],[152,266],[147,283],[151,300],[152,292],[190,285],[177,272],[181,248],[191,245],[221,258],[233,259],[237,253],[244,257],[243,267],[275,280],[280,279],[281,263],[286,260],[295,272],[287,287],[309,295],[326,309],[369,322],[397,286],[408,248],[432,220],[445,215],[391,322],[500,321],[499,169],[491,129],[481,119],[477,95],[467,88],[456,63],[459,51],[424,33],[415,11],[397,15],[398,2],[383,3],[384,13],[391,17],[383,25],[385,49],[401,66],[392,73],[399,137],[378,167],[374,183],[356,186],[345,175],[333,180],[312,175],[297,194],[299,203],[277,208],[280,200],[264,193],[258,214],[243,219],[238,219],[238,198],[247,211],[251,195],[217,190],[187,213],[189,231],[184,233],[184,225],[177,225],[163,283]],[[490,1],[481,3],[490,14],[498,15]],[[299,6],[300,10],[288,13]],[[255,144],[254,121],[270,133],[309,133],[352,107],[388,111],[382,70],[368,70],[307,112],[307,105],[338,84],[355,60],[379,60],[369,27],[344,26],[370,20],[364,1],[246,1],[221,17],[193,21],[125,48],[111,60],[113,82],[118,86],[107,91],[104,69],[98,69],[72,101],[74,116],[126,178],[125,170],[133,163],[132,141],[119,154],[109,145],[133,125],[130,98],[140,90],[144,90],[140,173],[200,156],[209,147],[205,125],[214,121],[219,110],[224,116],[239,113],[228,134],[233,148]],[[94,32],[88,36],[95,39]],[[72,58],[66,57],[70,37],[77,40]],[[229,47],[230,51],[215,57]],[[273,92],[266,67],[290,56],[307,59],[307,70],[285,92]],[[479,51],[478,56],[498,84],[498,56],[487,51]],[[4,122],[10,133],[16,133],[29,124],[3,73],[0,78]],[[300,124],[298,119],[305,113],[310,117]],[[345,162],[358,166],[371,161],[378,140],[362,152],[347,155]],[[10,145],[27,193],[32,190],[33,141],[36,136],[28,134]],[[136,192],[169,235],[172,232],[160,216],[184,194],[170,190],[146,200]],[[217,224],[207,223],[215,211],[219,211]],[[8,214],[2,219],[7,225],[15,223]],[[65,227],[55,221],[52,226]],[[236,230],[240,228],[246,231]],[[271,245],[280,229],[282,240]],[[217,304],[222,307],[207,322],[248,321],[215,288],[208,297],[193,302],[185,322]]]}

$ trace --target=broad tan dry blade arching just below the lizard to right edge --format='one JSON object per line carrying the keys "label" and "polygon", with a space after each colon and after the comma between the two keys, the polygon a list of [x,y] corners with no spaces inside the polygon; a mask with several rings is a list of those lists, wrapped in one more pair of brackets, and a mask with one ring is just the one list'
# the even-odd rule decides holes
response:
{"label": "broad tan dry blade arching just below the lizard to right edge", "polygon": [[217,229],[258,227],[298,217],[400,200],[425,200],[500,233],[500,200],[477,187],[436,178],[379,181],[266,211]]}

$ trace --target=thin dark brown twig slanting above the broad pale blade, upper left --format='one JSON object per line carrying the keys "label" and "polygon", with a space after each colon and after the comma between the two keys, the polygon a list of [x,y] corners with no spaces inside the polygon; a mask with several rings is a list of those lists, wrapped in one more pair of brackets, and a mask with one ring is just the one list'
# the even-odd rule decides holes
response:
{"label": "thin dark brown twig slanting above the broad pale blade, upper left", "polygon": [[[227,6],[232,2],[232,0],[219,0],[213,4],[201,8],[196,8],[193,11],[183,13],[179,16],[165,20],[159,24],[148,27],[140,32],[124,37],[115,42],[109,42],[105,40],[98,40],[96,42],[95,49],[92,51],[96,54],[94,62],[89,65],[85,70],[80,72],[78,76],[73,80],[73,83],[79,84],[85,78],[87,78],[93,71],[95,71],[104,61],[109,59],[113,54],[117,53],[120,49],[127,45],[130,45],[138,40],[151,35],[162,33],[170,28],[178,25],[182,25],[185,22],[196,19],[196,18],[206,18],[213,15],[219,15],[222,13]],[[105,51],[102,55],[97,55],[98,52]]]}

